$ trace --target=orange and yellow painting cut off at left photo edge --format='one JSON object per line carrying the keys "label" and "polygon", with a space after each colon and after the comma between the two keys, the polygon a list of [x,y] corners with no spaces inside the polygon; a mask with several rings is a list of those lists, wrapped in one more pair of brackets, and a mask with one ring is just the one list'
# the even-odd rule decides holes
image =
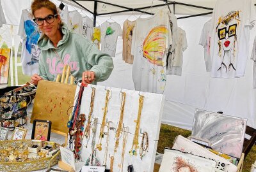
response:
{"label": "orange and yellow painting cut off at left photo edge", "polygon": [[0,48],[0,84],[8,83],[10,55],[10,48]]}

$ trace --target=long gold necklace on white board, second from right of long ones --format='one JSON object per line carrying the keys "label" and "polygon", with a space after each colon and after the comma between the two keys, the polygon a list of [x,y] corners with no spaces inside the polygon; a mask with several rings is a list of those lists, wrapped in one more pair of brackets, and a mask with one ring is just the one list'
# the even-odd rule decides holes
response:
{"label": "long gold necklace on white board, second from right of long ones", "polygon": [[120,134],[121,134],[121,131],[123,128],[125,97],[126,97],[126,93],[122,92],[122,102],[121,102],[121,107],[120,107],[120,119],[119,119],[118,127],[116,129],[116,135],[115,135],[116,141],[115,141],[114,152],[117,152],[117,147],[119,145],[119,138],[120,138]]}

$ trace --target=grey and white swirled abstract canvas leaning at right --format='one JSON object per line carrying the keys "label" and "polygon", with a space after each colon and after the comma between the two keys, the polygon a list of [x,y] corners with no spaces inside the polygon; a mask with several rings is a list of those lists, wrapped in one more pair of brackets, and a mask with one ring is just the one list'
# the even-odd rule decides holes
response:
{"label": "grey and white swirled abstract canvas leaning at right", "polygon": [[212,149],[240,158],[247,119],[211,111],[195,111],[192,136],[211,141]]}

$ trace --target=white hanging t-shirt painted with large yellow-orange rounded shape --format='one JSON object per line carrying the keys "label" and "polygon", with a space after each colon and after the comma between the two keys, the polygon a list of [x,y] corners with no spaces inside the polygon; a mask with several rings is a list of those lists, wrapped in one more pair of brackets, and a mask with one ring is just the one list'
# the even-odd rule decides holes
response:
{"label": "white hanging t-shirt painted with large yellow-orange rounded shape", "polygon": [[166,83],[166,50],[172,43],[168,13],[138,18],[132,35],[132,80],[135,90],[163,94]]}

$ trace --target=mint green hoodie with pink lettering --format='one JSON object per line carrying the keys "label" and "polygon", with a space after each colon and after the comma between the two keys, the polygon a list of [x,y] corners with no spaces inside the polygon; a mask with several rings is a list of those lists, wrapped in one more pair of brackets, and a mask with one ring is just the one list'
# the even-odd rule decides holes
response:
{"label": "mint green hoodie with pink lettering", "polygon": [[89,70],[95,72],[93,84],[108,79],[114,68],[112,58],[100,52],[91,41],[70,32],[66,24],[61,26],[61,31],[63,38],[58,42],[57,48],[47,36],[42,35],[38,39],[38,47],[42,50],[38,75],[44,80],[55,81],[56,76],[62,73],[63,66],[68,64],[70,73],[77,82],[81,82],[83,72]]}

